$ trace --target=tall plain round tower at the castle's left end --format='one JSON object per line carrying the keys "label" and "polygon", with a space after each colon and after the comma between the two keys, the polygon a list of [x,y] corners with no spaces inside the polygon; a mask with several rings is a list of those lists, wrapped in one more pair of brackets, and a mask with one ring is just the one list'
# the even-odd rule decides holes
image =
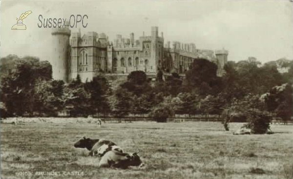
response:
{"label": "tall plain round tower at the castle's left end", "polygon": [[71,31],[69,23],[65,23],[65,28],[53,28],[52,34],[52,77],[54,80],[68,82],[68,50]]}

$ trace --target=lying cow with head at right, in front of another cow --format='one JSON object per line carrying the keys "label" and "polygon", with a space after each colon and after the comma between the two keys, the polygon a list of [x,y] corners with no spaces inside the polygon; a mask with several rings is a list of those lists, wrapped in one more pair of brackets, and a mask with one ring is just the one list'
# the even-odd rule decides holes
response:
{"label": "lying cow with head at right, in front of another cow", "polygon": [[137,155],[139,151],[128,154],[128,153],[122,153],[117,152],[114,150],[111,150],[107,152],[100,160],[98,167],[99,168],[121,168],[126,169],[129,166],[144,166],[144,163],[140,159],[140,157]]}

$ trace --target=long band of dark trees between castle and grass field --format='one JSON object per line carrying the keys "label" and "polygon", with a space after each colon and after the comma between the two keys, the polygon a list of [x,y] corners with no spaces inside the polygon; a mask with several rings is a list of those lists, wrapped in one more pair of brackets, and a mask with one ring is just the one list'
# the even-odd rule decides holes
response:
{"label": "long band of dark trees between castle and grass field", "polygon": [[143,71],[134,71],[112,89],[103,77],[83,83],[78,76],[64,84],[52,79],[48,61],[9,55],[0,59],[1,116],[57,116],[68,111],[70,116],[118,118],[149,114],[158,120],[174,114],[234,114],[232,120],[241,120],[241,115],[247,120],[246,113],[252,110],[290,120],[293,61],[287,66],[288,72],[281,74],[272,62],[228,61],[225,74],[218,77],[216,64],[197,59],[185,79],[159,71],[152,81]]}

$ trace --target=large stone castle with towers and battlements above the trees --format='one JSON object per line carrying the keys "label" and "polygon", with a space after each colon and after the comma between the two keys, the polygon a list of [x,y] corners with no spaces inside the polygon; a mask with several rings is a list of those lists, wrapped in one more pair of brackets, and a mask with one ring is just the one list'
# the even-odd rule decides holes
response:
{"label": "large stone castle with towers and battlements above the trees", "polygon": [[[163,32],[159,36],[158,27],[151,27],[151,35],[135,40],[130,33],[129,39],[117,35],[109,42],[105,33],[71,33],[66,28],[56,28],[52,32],[53,53],[52,70],[54,80],[65,82],[80,75],[82,81],[90,81],[96,76],[127,76],[132,71],[146,72],[155,79],[159,70],[164,74],[173,72],[184,76],[193,60],[204,58],[218,65],[217,75],[223,74],[227,62],[227,50],[200,50],[194,43],[184,44],[167,41],[164,44]],[[71,39],[70,39],[71,37]]]}

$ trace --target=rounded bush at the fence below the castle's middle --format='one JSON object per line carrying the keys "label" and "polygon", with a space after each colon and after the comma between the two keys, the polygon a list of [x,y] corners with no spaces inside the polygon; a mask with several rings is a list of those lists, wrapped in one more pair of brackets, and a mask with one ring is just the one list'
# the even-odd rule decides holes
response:
{"label": "rounded bush at the fence below the castle's middle", "polygon": [[155,107],[150,113],[150,117],[157,122],[167,122],[167,118],[172,115],[173,111],[171,108],[165,105]]}

